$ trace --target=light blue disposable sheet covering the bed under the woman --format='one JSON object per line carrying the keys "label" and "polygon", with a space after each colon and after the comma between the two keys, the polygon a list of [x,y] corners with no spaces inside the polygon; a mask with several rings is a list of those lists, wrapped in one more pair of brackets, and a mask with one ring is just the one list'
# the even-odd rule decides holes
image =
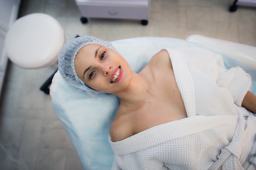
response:
{"label": "light blue disposable sheet covering the bed under the woman", "polygon": [[[155,53],[165,47],[177,49],[199,46],[209,49],[185,40],[157,37],[117,40],[112,44],[135,72],[139,72]],[[225,61],[234,62],[230,57],[222,56]],[[119,106],[118,98],[111,94],[99,94],[92,98],[85,92],[76,91],[58,74],[54,76],[51,86],[54,112],[61,119],[83,167],[86,170],[110,170],[114,154],[108,143],[108,135]]]}

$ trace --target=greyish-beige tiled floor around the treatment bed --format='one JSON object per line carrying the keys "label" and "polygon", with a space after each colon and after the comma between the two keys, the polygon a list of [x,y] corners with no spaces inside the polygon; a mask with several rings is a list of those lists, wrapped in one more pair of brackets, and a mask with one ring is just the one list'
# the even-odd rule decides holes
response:
{"label": "greyish-beige tiled floor around the treatment bed", "polygon": [[[185,39],[201,34],[256,46],[256,8],[228,8],[233,0],[151,0],[149,23],[135,20],[89,19],[74,0],[22,0],[19,16],[43,12],[56,18],[67,40],[92,35],[108,41],[159,36]],[[29,170],[81,170],[81,162],[61,122],[54,115],[51,97],[39,90],[57,66],[29,70],[11,62],[0,99],[0,142]],[[0,150],[0,170],[21,170]]]}

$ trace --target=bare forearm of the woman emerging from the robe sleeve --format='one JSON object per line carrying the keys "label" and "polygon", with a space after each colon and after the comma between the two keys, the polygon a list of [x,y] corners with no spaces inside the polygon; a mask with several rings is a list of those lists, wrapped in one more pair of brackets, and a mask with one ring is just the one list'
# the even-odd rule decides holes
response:
{"label": "bare forearm of the woman emerging from the robe sleeve", "polygon": [[247,110],[256,113],[256,96],[248,91],[243,99],[242,106]]}

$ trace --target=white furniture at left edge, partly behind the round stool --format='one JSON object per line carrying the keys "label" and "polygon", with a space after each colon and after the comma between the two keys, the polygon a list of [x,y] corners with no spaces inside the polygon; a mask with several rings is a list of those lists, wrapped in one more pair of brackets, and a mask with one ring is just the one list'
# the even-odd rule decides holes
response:
{"label": "white furniture at left edge, partly behind the round stool", "polygon": [[19,6],[20,0],[0,0],[0,95],[8,61],[4,38],[11,24],[17,19]]}

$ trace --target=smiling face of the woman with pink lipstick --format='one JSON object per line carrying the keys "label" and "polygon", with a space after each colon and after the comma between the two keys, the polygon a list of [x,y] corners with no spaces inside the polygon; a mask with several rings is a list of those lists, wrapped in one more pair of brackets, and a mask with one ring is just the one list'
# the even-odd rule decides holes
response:
{"label": "smiling face of the woman with pink lipstick", "polygon": [[132,71],[116,51],[99,44],[83,46],[75,57],[78,77],[90,88],[115,93],[128,86]]}

